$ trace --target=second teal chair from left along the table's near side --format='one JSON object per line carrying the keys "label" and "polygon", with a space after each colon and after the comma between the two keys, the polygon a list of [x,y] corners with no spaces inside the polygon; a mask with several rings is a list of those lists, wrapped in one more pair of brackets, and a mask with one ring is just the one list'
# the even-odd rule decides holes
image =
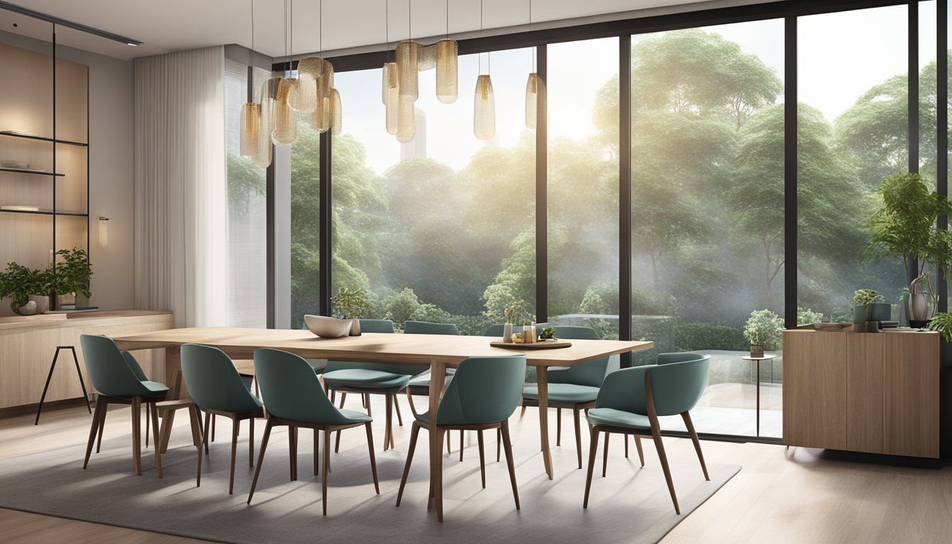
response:
{"label": "second teal chair from left along the table's near side", "polygon": [[[234,492],[235,456],[238,429],[248,419],[248,466],[254,465],[254,418],[264,417],[261,400],[248,391],[230,357],[218,348],[185,344],[182,346],[182,375],[195,405],[205,412],[205,428],[211,414],[231,418],[231,470],[228,494]],[[208,438],[206,438],[208,439]],[[206,442],[208,448],[208,442]],[[202,468],[199,465],[198,483]]]}

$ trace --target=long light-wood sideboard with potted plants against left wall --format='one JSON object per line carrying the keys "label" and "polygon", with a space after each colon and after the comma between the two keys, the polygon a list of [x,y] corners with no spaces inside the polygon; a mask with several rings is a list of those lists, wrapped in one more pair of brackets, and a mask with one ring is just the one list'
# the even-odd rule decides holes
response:
{"label": "long light-wood sideboard with potted plants against left wall", "polygon": [[[80,334],[118,336],[172,328],[171,312],[116,310],[0,318],[0,409],[35,404],[50,373],[57,346],[75,346],[89,393]],[[162,350],[135,353],[147,375],[153,365],[164,365]],[[72,354],[60,353],[50,380],[47,401],[79,398],[83,390],[76,377]]]}

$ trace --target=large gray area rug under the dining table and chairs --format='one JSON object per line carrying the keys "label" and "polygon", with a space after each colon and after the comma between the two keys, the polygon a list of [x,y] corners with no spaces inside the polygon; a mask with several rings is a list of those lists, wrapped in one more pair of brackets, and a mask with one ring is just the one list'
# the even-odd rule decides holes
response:
{"label": "large gray area rug under the dining table and chairs", "polygon": [[[260,442],[264,424],[257,427]],[[235,494],[228,495],[228,433],[219,432],[211,444],[211,454],[203,462],[202,485],[196,488],[195,450],[184,445],[190,438],[188,430],[176,427],[172,447],[163,456],[163,479],[152,467],[151,448],[143,450],[143,474],[137,476],[132,473],[129,437],[113,438],[103,442],[102,453],[92,454],[86,471],[82,446],[0,461],[0,507],[236,544],[641,543],[661,540],[741,470],[737,465],[709,464],[711,481],[705,481],[696,457],[672,455],[669,446],[682,509],[677,515],[651,441],[644,442],[645,468],[640,469],[634,446],[631,459],[626,459],[616,436],[605,478],[599,450],[591,498],[583,510],[585,471],[575,468],[574,440],[553,447],[556,475],[548,480],[535,429],[517,431],[513,437],[521,511],[515,510],[505,456],[503,462],[495,462],[494,433],[486,435],[486,489],[480,483],[476,433],[466,433],[462,463],[459,434],[453,433],[453,453],[444,453],[444,523],[437,522],[435,511],[426,510],[426,432],[420,436],[404,500],[400,508],[394,506],[407,455],[407,427],[396,433],[397,450],[386,453],[377,442],[382,430],[375,429],[379,495],[373,491],[366,434],[362,429],[344,433],[340,453],[331,454],[327,517],[321,515],[321,485],[312,475],[312,434],[307,430],[300,432],[296,482],[288,477],[287,433],[272,433],[250,506],[246,501],[253,469],[248,468],[247,438],[238,447]],[[675,440],[665,438],[665,444]]]}

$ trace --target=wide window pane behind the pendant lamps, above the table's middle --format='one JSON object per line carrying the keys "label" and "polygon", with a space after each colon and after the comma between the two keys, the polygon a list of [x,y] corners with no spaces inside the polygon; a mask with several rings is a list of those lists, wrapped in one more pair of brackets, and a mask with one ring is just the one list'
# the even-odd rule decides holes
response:
{"label": "wide window pane behind the pendant lamps, above the table's middle", "polygon": [[[344,131],[331,153],[331,292],[363,290],[363,315],[398,330],[415,319],[481,334],[514,301],[530,313],[535,305],[535,140],[524,121],[532,53],[479,56],[459,58],[452,104],[436,99],[434,71],[419,73],[416,136],[406,144],[386,131],[381,70],[335,74]],[[481,71],[496,99],[497,131],[486,141],[473,136]]]}

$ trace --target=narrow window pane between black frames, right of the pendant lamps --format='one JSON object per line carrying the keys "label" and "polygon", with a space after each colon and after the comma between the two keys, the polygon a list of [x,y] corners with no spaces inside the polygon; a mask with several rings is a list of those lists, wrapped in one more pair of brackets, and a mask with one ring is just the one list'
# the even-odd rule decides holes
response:
{"label": "narrow window pane between black frames, right of the pendant lamps", "polygon": [[547,48],[548,320],[618,339],[618,38]]}

